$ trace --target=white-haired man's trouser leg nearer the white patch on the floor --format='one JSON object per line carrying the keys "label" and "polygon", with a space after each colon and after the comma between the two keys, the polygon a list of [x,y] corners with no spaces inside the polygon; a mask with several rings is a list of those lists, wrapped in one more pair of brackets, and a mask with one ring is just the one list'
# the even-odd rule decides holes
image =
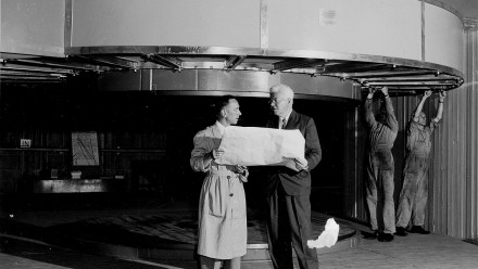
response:
{"label": "white-haired man's trouser leg nearer the white patch on the floor", "polygon": [[301,269],[317,269],[317,252],[309,248],[312,240],[311,201],[309,195],[286,196],[287,213],[292,232],[292,245]]}

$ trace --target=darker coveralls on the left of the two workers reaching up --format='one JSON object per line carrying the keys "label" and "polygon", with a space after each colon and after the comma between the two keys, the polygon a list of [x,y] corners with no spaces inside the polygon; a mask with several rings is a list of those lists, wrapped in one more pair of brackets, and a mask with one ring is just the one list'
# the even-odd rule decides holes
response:
{"label": "darker coveralls on the left of the two workers reaching up", "polygon": [[375,119],[373,101],[365,101],[365,120],[368,126],[368,154],[366,159],[366,200],[370,217],[372,230],[378,231],[377,201],[378,191],[383,197],[383,232],[395,232],[395,208],[393,203],[394,162],[391,149],[399,131],[399,125],[393,113],[390,98],[385,98],[386,119],[379,123]]}

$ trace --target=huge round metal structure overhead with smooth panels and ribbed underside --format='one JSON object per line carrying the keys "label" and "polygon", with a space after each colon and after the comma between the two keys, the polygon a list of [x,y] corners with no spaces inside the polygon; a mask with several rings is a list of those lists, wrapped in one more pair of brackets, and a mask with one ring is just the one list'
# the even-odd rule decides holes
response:
{"label": "huge round metal structure overhead with smooth panels and ribbed underside", "polygon": [[[129,90],[178,94],[261,95],[285,82],[349,99],[368,87],[415,94],[463,84],[463,23],[431,1],[55,1],[43,4],[63,4],[65,13],[50,20],[64,16],[64,31],[49,30],[48,41],[25,38],[32,27],[5,28],[3,81],[97,72],[106,90],[128,90],[110,77],[134,78]],[[2,25],[45,25],[41,9],[3,8]]]}

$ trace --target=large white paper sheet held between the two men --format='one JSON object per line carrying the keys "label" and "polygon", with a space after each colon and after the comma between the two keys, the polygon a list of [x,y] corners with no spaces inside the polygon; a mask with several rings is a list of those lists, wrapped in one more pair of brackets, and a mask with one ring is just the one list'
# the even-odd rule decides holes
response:
{"label": "large white paper sheet held between the two men", "polygon": [[219,149],[224,155],[215,162],[223,165],[281,165],[298,170],[293,158],[306,164],[305,139],[297,129],[229,126]]}

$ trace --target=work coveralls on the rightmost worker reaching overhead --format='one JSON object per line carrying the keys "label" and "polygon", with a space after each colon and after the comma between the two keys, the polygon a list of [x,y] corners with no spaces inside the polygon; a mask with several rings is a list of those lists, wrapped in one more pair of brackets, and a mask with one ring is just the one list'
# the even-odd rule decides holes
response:
{"label": "work coveralls on the rightmost worker reaching overhead", "polygon": [[418,128],[413,118],[407,132],[405,167],[403,169],[403,187],[397,215],[397,226],[406,228],[413,216],[414,226],[425,223],[425,206],[428,198],[428,164],[431,150],[431,133],[438,127],[436,120],[428,126]]}

